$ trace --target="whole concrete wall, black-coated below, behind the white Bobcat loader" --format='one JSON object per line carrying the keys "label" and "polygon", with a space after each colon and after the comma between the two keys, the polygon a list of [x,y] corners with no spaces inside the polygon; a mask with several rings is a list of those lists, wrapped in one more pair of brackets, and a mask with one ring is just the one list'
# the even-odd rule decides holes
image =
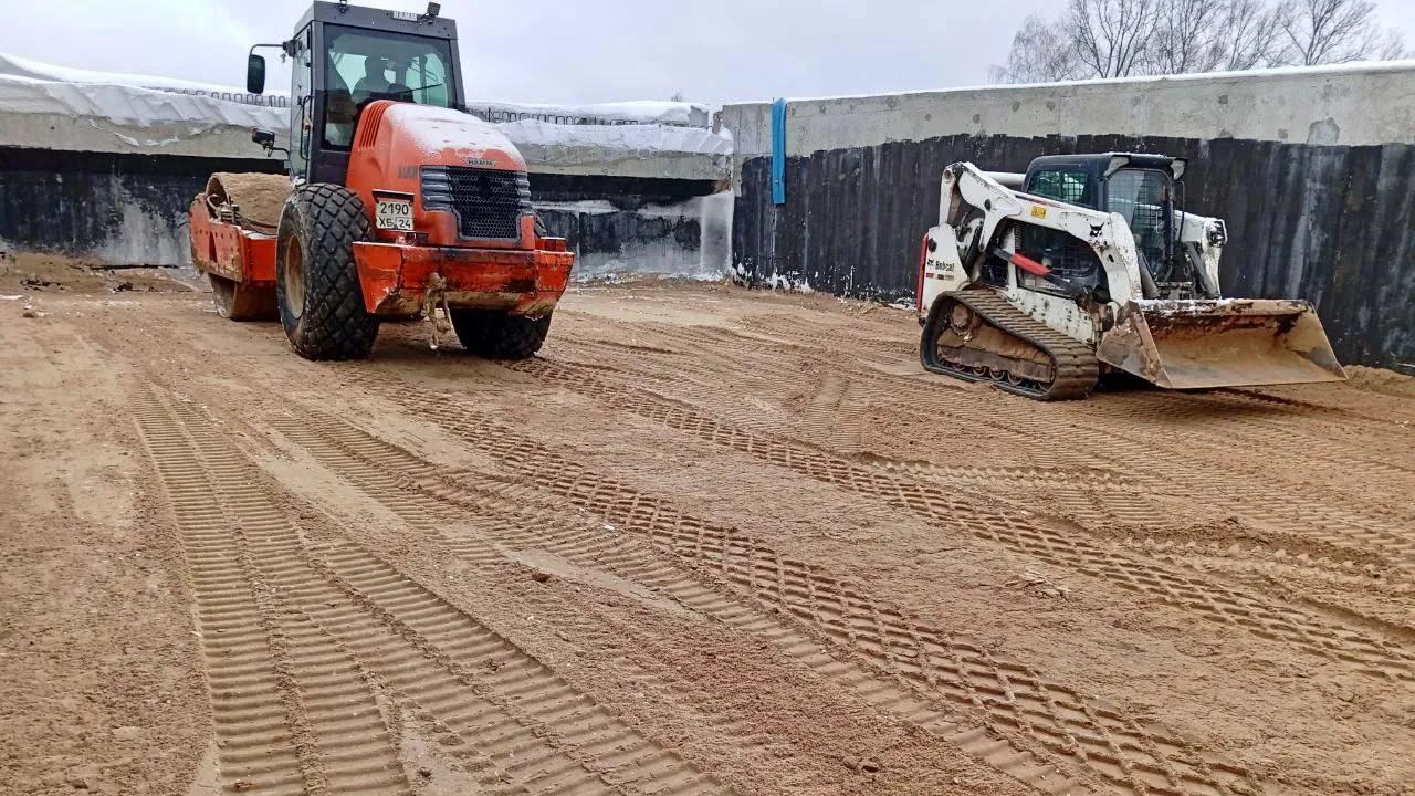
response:
{"label": "whole concrete wall, black-coated below, behind the white Bobcat loader", "polygon": [[1309,299],[1343,361],[1415,367],[1415,62],[792,101],[784,205],[770,105],[722,119],[747,283],[913,299],[947,164],[1165,152],[1190,157],[1189,207],[1228,221],[1228,295]]}

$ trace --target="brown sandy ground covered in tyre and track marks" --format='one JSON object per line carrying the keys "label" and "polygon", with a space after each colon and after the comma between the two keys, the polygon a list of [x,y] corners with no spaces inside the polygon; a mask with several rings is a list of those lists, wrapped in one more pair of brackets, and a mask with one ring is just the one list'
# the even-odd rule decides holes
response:
{"label": "brown sandy ground covered in tyre and track marks", "polygon": [[1415,793],[1407,377],[1047,405],[669,286],[313,364],[10,265],[6,793]]}

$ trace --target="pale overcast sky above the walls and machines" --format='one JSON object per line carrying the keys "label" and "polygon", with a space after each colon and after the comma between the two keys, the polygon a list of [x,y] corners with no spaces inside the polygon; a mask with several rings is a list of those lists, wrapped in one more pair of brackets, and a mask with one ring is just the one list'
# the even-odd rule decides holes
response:
{"label": "pale overcast sky above the walls and machines", "polygon": [[[358,4],[423,10],[419,0]],[[241,85],[246,48],[303,0],[4,0],[0,52]],[[720,103],[985,84],[1016,23],[1057,0],[443,0],[468,99]],[[1380,0],[1415,44],[1415,0]],[[272,65],[275,65],[272,62]],[[272,89],[286,91],[272,71]]]}

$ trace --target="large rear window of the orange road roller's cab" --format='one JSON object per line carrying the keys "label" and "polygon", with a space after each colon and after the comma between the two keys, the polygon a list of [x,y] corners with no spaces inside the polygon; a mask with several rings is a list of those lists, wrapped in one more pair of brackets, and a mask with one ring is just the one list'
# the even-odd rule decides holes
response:
{"label": "large rear window of the orange road roller's cab", "polygon": [[348,149],[358,116],[375,99],[451,108],[451,42],[389,31],[327,25],[324,143]]}

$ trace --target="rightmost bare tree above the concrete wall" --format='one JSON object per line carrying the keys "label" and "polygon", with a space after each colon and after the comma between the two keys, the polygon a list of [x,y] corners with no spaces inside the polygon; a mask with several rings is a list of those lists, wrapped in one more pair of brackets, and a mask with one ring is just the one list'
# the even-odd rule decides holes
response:
{"label": "rightmost bare tree above the concrete wall", "polygon": [[1292,64],[1346,64],[1378,52],[1381,31],[1370,0],[1283,0],[1281,7]]}

